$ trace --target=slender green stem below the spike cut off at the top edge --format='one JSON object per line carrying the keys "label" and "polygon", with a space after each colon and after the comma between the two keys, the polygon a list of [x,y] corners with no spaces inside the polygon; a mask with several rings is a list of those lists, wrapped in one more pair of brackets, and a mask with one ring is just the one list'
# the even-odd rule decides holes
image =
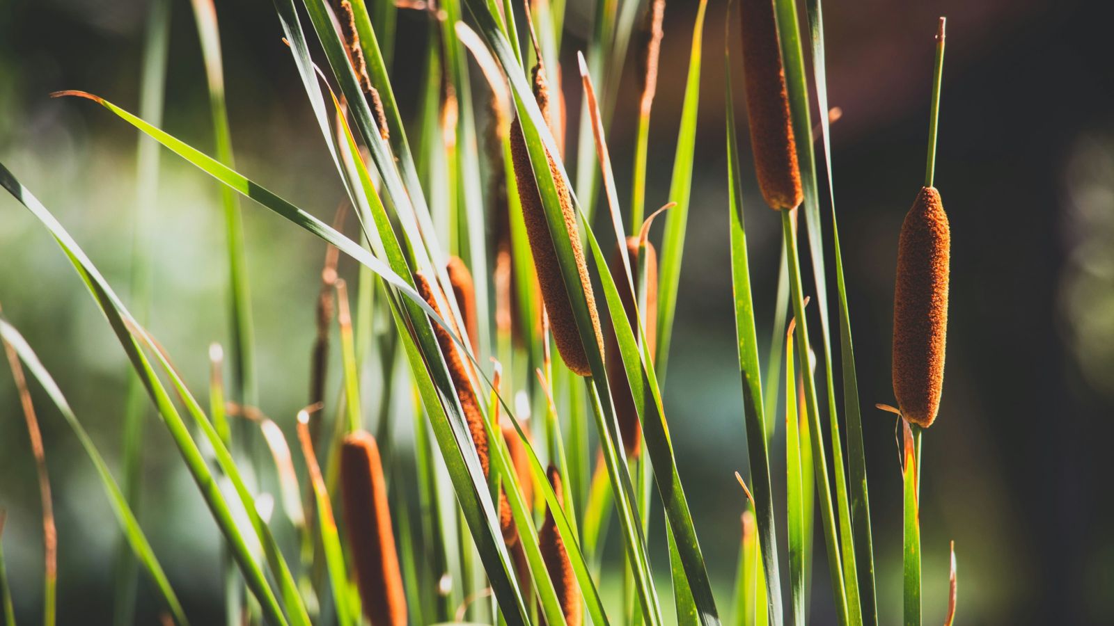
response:
{"label": "slender green stem below the spike cut off at the top edge", "polygon": [[[793,209],[797,211],[797,209]],[[801,295],[801,263],[797,250],[797,228],[793,225],[793,212],[781,211],[782,235],[785,239],[785,257],[789,261],[790,299],[793,302],[793,315],[797,317],[797,352],[798,361],[809,362],[809,324],[804,317],[804,299]],[[840,563],[839,538],[836,534],[836,511],[832,507],[831,483],[828,480],[828,458],[824,452],[823,431],[820,427],[820,414],[817,411],[817,385],[810,368],[803,368],[804,405],[812,431],[812,458],[817,473],[817,487],[821,500],[821,520],[824,526],[824,542],[828,546],[828,568],[832,581],[832,596],[840,624],[848,624],[847,596],[843,585],[843,568]]]}

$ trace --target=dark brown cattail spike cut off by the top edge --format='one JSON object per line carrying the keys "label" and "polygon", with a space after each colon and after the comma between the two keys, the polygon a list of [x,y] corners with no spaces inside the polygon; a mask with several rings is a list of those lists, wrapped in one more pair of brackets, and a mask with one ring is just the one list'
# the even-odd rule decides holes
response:
{"label": "dark brown cattail spike cut off by the top edge", "polygon": [[801,170],[797,164],[793,120],[773,2],[740,0],[739,17],[743,23],[746,117],[759,187],[771,208],[797,208],[803,198]]}

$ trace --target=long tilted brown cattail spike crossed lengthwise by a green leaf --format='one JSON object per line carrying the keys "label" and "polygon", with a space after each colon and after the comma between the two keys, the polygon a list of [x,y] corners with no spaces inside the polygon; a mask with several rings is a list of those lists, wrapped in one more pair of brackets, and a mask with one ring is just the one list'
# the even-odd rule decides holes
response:
{"label": "long tilted brown cattail spike crossed lengthwise by a green leaf", "polygon": [[[548,87],[546,86],[545,72],[540,63],[534,67],[534,96],[547,123],[549,123]],[[553,124],[549,123],[549,126],[553,127]],[[530,155],[526,148],[526,141],[522,139],[522,127],[517,118],[510,128],[510,154],[515,166],[515,179],[518,182],[518,194],[522,205],[526,233],[530,241],[534,265],[538,273],[538,282],[541,285],[541,297],[549,313],[549,323],[554,331],[557,351],[569,370],[582,376],[590,375],[592,366],[588,363],[588,355],[585,352],[584,344],[580,342],[580,333],[576,327],[576,317],[573,314],[573,305],[568,300],[568,293],[565,288],[565,280],[561,277],[557,252],[549,236],[549,223],[546,221],[545,206],[541,204],[538,183],[534,178],[534,169],[530,166]],[[557,186],[561,213],[565,216],[565,228],[573,244],[573,256],[576,260],[576,266],[580,274],[580,284],[584,286],[584,297],[588,302],[588,312],[592,315],[592,325],[595,330],[596,342],[599,345],[599,350],[603,351],[604,342],[599,332],[599,315],[596,313],[596,300],[592,292],[588,266],[584,261],[584,248],[580,245],[580,231],[576,224],[573,198],[557,170],[553,155],[547,156],[549,157],[549,172]]]}

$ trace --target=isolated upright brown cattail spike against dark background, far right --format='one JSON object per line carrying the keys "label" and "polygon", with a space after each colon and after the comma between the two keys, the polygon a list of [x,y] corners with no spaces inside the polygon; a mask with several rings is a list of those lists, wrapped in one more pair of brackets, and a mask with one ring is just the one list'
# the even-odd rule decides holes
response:
{"label": "isolated upright brown cattail spike against dark background, far right", "polygon": [[950,246],[940,194],[921,187],[901,224],[893,290],[893,395],[901,415],[921,428],[940,408]]}

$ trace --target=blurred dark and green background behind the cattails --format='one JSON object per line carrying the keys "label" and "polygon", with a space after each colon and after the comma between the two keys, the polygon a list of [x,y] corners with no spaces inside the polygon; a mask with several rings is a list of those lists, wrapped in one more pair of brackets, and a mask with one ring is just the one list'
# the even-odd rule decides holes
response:
{"label": "blurred dark and green background behind the cattails", "polygon": [[[188,2],[173,6],[164,128],[212,153],[196,28]],[[734,573],[742,509],[732,472],[746,467],[725,228],[725,6],[713,0],[709,9],[697,174],[665,390],[680,471],[711,574],[723,589]],[[667,192],[694,7],[674,0],[667,8],[651,134],[651,207]],[[145,0],[0,0],[0,160],[55,213],[125,302],[135,131],[89,102],[48,94],[85,89],[135,110],[146,8]],[[237,168],[329,219],[342,188],[272,4],[226,0],[217,11]],[[939,14],[948,17],[949,32],[936,184],[950,217],[952,256],[944,401],[925,438],[926,617],[942,618],[954,539],[960,624],[1114,623],[1110,13],[1105,2],[1069,0],[825,3],[829,97],[843,111],[832,130],[837,207],[883,624],[899,620],[901,481],[893,419],[866,407],[893,401],[897,234],[924,170]],[[566,67],[575,67],[589,14],[590,2],[569,1]],[[405,114],[417,110],[424,27],[412,12],[399,18],[393,76]],[[637,104],[634,66],[627,65],[610,133],[623,198],[636,117],[624,115]],[[574,72],[565,74],[564,88],[569,111],[578,110]],[[745,119],[741,92],[735,101]],[[740,140],[745,150],[745,136]],[[778,221],[744,167],[755,304],[760,322],[769,324]],[[217,188],[169,154],[160,175],[149,327],[201,390],[207,345],[227,335]],[[261,403],[292,429],[307,395],[324,248],[250,202],[243,206]],[[342,262],[343,274],[353,276],[353,270]],[[115,462],[128,374],[124,353],[46,231],[7,195],[0,197],[0,305]],[[768,338],[769,329],[759,333]],[[59,617],[63,624],[101,623],[110,616],[117,527],[77,441],[45,397],[36,392],[36,399],[59,529]],[[398,408],[403,437],[405,409]],[[206,619],[196,616],[216,619],[217,531],[168,438],[159,428],[148,431],[144,526],[187,613],[197,623]],[[4,552],[26,620],[38,607],[41,527],[26,427],[7,373],[0,373],[0,507],[8,511]],[[655,525],[661,539],[659,519]],[[822,550],[817,555],[823,558]],[[664,548],[655,558],[667,571]],[[815,571],[824,571],[821,563]],[[825,585],[813,585],[818,624],[833,623],[824,613],[827,593]],[[720,601],[726,606],[724,596]],[[150,623],[155,610],[155,603],[141,601],[138,619]]]}

